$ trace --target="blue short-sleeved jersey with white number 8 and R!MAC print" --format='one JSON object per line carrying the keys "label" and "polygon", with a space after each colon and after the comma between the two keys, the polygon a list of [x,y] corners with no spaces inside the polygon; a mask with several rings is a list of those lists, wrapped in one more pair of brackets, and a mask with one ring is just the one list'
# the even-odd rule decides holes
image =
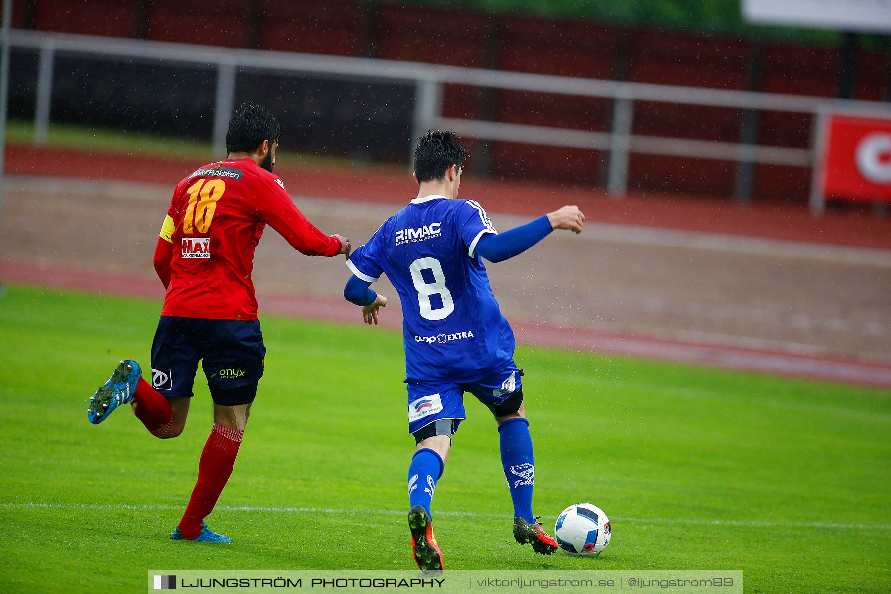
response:
{"label": "blue short-sleeved jersey with white number 8 and R!MAC print", "polygon": [[402,301],[405,381],[472,382],[511,363],[513,330],[481,258],[497,233],[476,202],[426,196],[388,218],[347,263],[364,281],[386,273]]}

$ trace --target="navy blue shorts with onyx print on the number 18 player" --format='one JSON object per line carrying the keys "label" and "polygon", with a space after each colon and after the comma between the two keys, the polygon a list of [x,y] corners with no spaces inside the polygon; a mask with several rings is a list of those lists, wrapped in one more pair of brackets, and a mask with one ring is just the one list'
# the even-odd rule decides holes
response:
{"label": "navy blue shorts with onyx print on the number 18 player", "polygon": [[168,398],[191,398],[201,361],[215,403],[252,403],[265,358],[259,320],[162,315],[151,343],[151,383]]}

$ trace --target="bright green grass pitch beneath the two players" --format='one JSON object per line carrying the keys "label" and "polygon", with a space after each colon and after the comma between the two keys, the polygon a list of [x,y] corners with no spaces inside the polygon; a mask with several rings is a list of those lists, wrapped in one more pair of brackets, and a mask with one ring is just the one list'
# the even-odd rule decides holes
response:
{"label": "bright green grass pitch beneath the two players", "polygon": [[[168,534],[211,425],[203,377],[179,438],[126,407],[86,420],[120,358],[148,365],[158,313],[14,285],[0,299],[0,591],[141,591],[160,568],[413,567],[399,335],[358,316],[262,318],[266,376],[208,518],[234,542],[198,544]],[[469,398],[433,507],[447,568],[742,569],[747,592],[891,589],[887,392],[525,346],[517,360],[536,513],[552,530],[592,502],[613,540],[596,559],[513,542],[495,423]]]}

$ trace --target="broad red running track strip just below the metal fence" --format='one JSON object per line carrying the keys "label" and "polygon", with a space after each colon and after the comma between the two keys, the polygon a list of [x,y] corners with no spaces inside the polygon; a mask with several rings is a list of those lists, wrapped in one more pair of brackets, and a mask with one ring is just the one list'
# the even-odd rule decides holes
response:
{"label": "broad red running track strip just below the metal fence", "polygon": [[[31,144],[10,144],[6,151],[6,171],[10,174],[166,183],[171,191],[201,165],[204,163],[183,159],[38,148]],[[278,167],[276,173],[291,193],[312,198],[405,204],[417,191],[407,173],[391,167]],[[587,220],[601,223],[891,249],[891,217],[854,209],[815,217],[803,205],[740,207],[720,198],[634,192],[616,199],[590,187],[475,180],[472,175],[462,181],[462,197],[476,199],[490,212],[511,215],[538,216],[564,204],[576,204]]]}

